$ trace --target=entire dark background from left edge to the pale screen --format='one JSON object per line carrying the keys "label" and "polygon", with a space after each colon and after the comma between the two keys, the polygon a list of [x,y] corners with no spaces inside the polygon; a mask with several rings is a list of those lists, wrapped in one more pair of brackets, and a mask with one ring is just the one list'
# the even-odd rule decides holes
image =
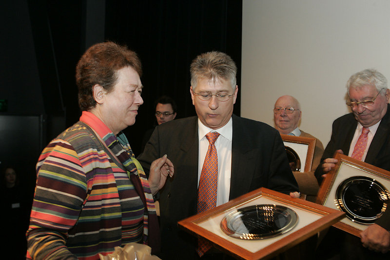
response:
{"label": "entire dark background from left edge to the pale screen", "polygon": [[[0,100],[7,102],[0,117],[42,119],[39,133],[33,133],[40,135],[35,152],[24,151],[21,147],[28,144],[18,138],[31,128],[28,122],[21,122],[18,133],[3,125],[0,161],[1,166],[23,164],[25,181],[32,187],[42,147],[80,116],[75,67],[94,43],[125,44],[142,61],[144,104],[136,124],[125,130],[136,155],[143,133],[153,126],[159,96],[176,100],[176,118],[195,115],[189,67],[197,55],[213,50],[229,54],[237,64],[240,85],[241,0],[15,0],[2,3],[0,17]],[[4,136],[12,140],[12,147]]]}

